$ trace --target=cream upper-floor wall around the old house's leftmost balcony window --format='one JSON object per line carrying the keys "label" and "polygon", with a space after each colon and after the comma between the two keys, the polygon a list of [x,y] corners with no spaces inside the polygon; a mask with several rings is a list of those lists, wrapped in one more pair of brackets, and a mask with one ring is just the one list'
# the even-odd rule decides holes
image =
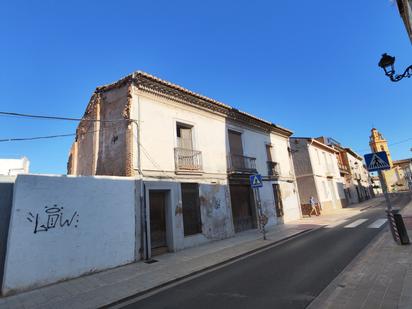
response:
{"label": "cream upper-floor wall around the old house's leftmost balcony window", "polygon": [[[175,172],[176,123],[193,126],[193,148],[202,152],[203,171],[226,177],[226,126],[223,116],[150,94],[133,97],[132,118],[141,113],[143,170]],[[217,175],[216,175],[217,174]]]}

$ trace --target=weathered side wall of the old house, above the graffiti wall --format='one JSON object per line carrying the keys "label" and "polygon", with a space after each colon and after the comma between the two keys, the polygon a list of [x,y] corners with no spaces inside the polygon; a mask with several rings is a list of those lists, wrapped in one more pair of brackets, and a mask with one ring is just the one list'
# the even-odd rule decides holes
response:
{"label": "weathered side wall of the old house, above the graffiti wall", "polygon": [[133,176],[130,87],[94,93],[80,122],[67,164],[71,175]]}

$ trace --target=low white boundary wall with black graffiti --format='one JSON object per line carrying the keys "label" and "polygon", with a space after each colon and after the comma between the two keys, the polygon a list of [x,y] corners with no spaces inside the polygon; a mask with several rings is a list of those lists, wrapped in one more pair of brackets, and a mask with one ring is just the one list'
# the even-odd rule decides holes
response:
{"label": "low white boundary wall with black graffiti", "polygon": [[130,178],[18,176],[3,293],[133,262],[135,206]]}

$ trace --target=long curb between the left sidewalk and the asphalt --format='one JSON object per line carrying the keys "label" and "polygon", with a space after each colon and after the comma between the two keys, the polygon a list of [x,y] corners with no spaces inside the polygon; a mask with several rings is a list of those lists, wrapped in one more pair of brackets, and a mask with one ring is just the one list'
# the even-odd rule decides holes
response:
{"label": "long curb between the left sidewalk and the asphalt", "polygon": [[265,244],[265,245],[263,245],[263,246],[261,246],[261,247],[259,247],[259,248],[255,248],[255,249],[252,249],[252,250],[250,250],[250,251],[247,251],[247,252],[241,253],[241,254],[239,254],[239,255],[233,256],[233,257],[231,257],[231,258],[229,258],[229,259],[227,259],[227,260],[218,262],[218,263],[213,264],[213,265],[206,266],[206,267],[204,267],[204,268],[202,268],[202,269],[199,269],[199,270],[196,270],[196,271],[194,271],[194,272],[191,272],[190,274],[183,275],[183,276],[178,277],[178,278],[174,278],[174,279],[172,279],[172,280],[170,280],[170,281],[167,281],[167,282],[161,283],[161,284],[159,284],[159,285],[156,285],[156,286],[154,286],[154,287],[148,288],[148,289],[146,289],[146,290],[137,292],[137,293],[132,294],[132,295],[130,295],[130,296],[127,296],[127,297],[125,297],[125,298],[116,300],[116,301],[111,302],[111,303],[108,303],[108,304],[106,304],[106,305],[102,305],[102,306],[100,306],[99,308],[110,308],[110,307],[112,307],[112,306],[121,305],[122,303],[125,303],[125,302],[127,302],[128,300],[132,300],[132,299],[134,299],[134,298],[137,298],[137,297],[139,297],[139,296],[148,294],[148,293],[153,292],[153,291],[155,291],[155,290],[158,290],[158,289],[164,288],[164,287],[166,287],[166,286],[169,286],[169,285],[178,283],[178,282],[180,282],[180,281],[183,281],[183,280],[188,279],[188,278],[190,278],[190,277],[194,277],[194,276],[196,276],[196,275],[199,275],[199,274],[201,274],[201,273],[203,273],[203,272],[212,270],[212,269],[214,269],[214,268],[218,268],[218,267],[220,267],[220,266],[224,266],[224,265],[226,265],[226,264],[230,264],[230,263],[232,263],[232,262],[234,262],[234,261],[236,261],[236,260],[238,260],[238,259],[247,257],[247,256],[249,256],[249,255],[253,255],[253,254],[255,254],[255,253],[258,253],[259,251],[264,251],[264,250],[266,250],[266,249],[268,249],[268,248],[270,248],[270,247],[272,247],[272,246],[279,245],[280,243],[286,242],[286,241],[291,240],[291,239],[293,239],[293,238],[297,238],[297,237],[303,236],[303,235],[305,235],[305,234],[309,234],[309,233],[311,233],[311,232],[315,232],[315,231],[317,231],[317,230],[319,230],[319,229],[321,229],[321,228],[323,228],[323,227],[324,227],[324,226],[322,225],[322,226],[317,227],[317,228],[312,228],[312,229],[303,230],[303,231],[301,231],[301,232],[298,232],[298,233],[295,233],[295,234],[293,234],[293,235],[287,236],[287,237],[285,237],[285,238],[282,238],[282,239],[276,240],[276,241],[274,241],[274,242],[271,242],[271,243],[269,243],[269,244]]}

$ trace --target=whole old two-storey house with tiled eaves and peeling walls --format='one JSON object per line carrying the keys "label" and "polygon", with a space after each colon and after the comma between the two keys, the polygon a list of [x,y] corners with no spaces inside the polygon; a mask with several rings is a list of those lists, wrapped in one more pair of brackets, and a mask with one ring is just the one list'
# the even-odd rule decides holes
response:
{"label": "whole old two-storey house with tiled eaves and peeling walls", "polygon": [[68,173],[142,179],[150,249],[175,251],[257,228],[252,174],[267,225],[300,218],[291,134],[136,72],[96,89]]}

